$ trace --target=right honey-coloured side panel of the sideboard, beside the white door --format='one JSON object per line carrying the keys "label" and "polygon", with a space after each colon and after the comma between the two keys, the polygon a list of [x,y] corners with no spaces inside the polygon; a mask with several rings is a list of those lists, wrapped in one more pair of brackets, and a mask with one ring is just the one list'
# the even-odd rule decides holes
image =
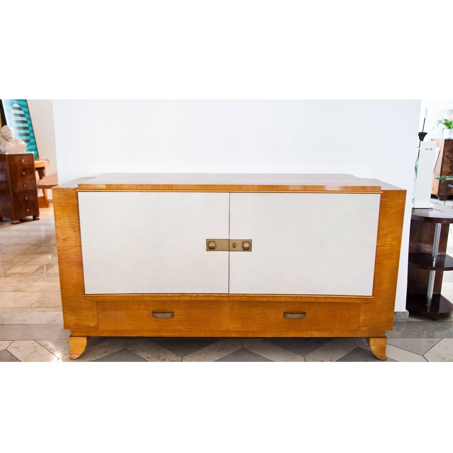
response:
{"label": "right honey-coloured side panel of the sideboard, beside the white door", "polygon": [[361,303],[360,330],[393,327],[405,200],[405,190],[384,190],[381,194],[373,299]]}

